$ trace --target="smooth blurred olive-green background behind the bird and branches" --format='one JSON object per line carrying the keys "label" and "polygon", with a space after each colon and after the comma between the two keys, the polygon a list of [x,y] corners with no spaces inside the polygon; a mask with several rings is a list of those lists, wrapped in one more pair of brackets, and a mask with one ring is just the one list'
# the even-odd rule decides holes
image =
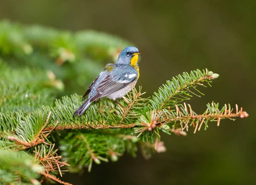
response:
{"label": "smooth blurred olive-green background behind the bird and branches", "polygon": [[192,98],[195,112],[215,101],[238,104],[250,115],[186,137],[163,135],[166,153],[148,161],[138,152],[136,159],[123,156],[62,179],[74,185],[256,184],[255,9],[254,0],[0,0],[0,20],[93,29],[131,41],[142,52],[137,86],[147,96],[174,75],[207,68],[220,77],[202,90],[206,96]]}

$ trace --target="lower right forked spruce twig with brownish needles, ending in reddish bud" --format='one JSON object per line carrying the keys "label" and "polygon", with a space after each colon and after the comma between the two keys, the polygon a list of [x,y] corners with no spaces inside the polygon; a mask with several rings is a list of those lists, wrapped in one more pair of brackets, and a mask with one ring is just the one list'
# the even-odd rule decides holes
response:
{"label": "lower right forked spruce twig with brownish needles, ending in reddish bud", "polygon": [[[234,118],[236,117],[240,117],[242,119],[249,116],[247,112],[242,111],[242,107],[239,110],[237,104],[236,112],[232,113],[233,109],[231,109],[230,104],[228,104],[228,107],[227,104],[225,104],[224,107],[219,109],[218,104],[212,102],[212,104],[207,104],[207,110],[200,115],[192,110],[190,104],[187,105],[185,103],[184,106],[176,105],[175,111],[165,109],[158,113],[155,111],[151,111],[150,113],[147,112],[146,115],[141,116],[137,122],[136,125],[139,127],[135,128],[134,133],[138,134],[137,137],[140,137],[140,135],[145,133],[143,135],[143,139],[146,135],[146,140],[150,137],[153,141],[152,137],[154,134],[156,134],[160,139],[158,129],[165,133],[169,133],[169,131],[171,131],[177,135],[186,135],[186,133],[183,133],[183,130],[186,129],[186,131],[188,131],[188,128],[191,125],[195,127],[194,133],[196,133],[197,130],[199,131],[201,129],[203,124],[205,125],[206,130],[208,127],[208,121],[217,121],[217,126],[219,126],[221,119],[235,120]],[[176,124],[177,122],[178,124]],[[172,129],[170,129],[170,126]]]}

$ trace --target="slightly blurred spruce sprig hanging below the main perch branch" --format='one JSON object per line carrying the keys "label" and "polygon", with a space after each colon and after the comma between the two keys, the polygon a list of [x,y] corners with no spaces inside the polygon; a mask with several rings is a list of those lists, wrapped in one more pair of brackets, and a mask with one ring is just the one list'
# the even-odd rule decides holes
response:
{"label": "slightly blurred spruce sprig hanging below the main perch branch", "polygon": [[130,133],[120,134],[120,131],[122,130],[81,130],[68,133],[61,139],[60,148],[64,152],[64,157],[70,161],[70,170],[79,170],[87,166],[88,171],[91,171],[93,162],[100,164],[101,161],[108,162],[108,159],[115,162],[125,151],[135,156],[136,143],[139,139],[129,135]]}

